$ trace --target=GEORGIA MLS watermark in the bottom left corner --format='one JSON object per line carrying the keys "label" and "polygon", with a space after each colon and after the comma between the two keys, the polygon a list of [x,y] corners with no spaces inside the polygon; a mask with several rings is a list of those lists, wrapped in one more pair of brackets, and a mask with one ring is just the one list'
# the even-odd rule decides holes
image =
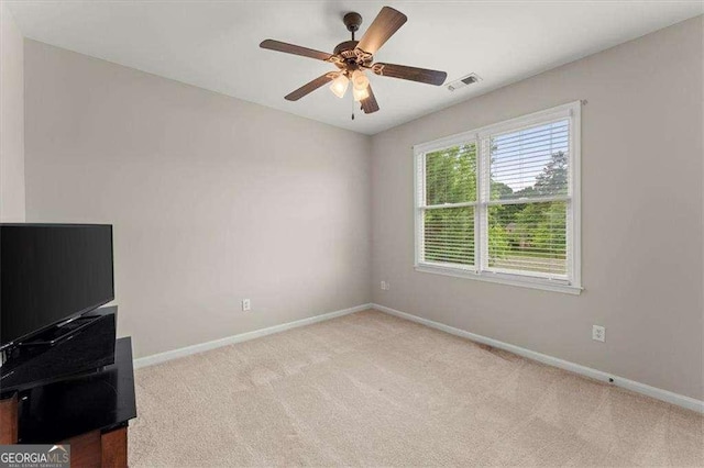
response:
{"label": "GEORGIA MLS watermark in the bottom left corner", "polygon": [[0,468],[70,468],[70,445],[0,445]]}

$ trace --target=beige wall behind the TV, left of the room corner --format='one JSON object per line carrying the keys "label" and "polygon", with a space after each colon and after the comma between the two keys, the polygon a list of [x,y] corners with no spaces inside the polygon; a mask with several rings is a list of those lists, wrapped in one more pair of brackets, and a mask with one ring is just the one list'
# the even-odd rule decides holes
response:
{"label": "beige wall behind the TV, left of the room corner", "polygon": [[28,220],[114,224],[119,334],[138,357],[370,301],[367,136],[24,53]]}

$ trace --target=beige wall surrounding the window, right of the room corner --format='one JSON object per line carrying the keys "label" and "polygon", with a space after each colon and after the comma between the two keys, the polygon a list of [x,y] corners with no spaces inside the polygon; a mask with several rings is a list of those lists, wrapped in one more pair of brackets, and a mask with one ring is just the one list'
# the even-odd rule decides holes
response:
{"label": "beige wall surrounding the window, right of the room corner", "polygon": [[[702,399],[702,30],[700,16],[375,135],[374,302]],[[585,291],[414,271],[411,145],[579,99]]]}

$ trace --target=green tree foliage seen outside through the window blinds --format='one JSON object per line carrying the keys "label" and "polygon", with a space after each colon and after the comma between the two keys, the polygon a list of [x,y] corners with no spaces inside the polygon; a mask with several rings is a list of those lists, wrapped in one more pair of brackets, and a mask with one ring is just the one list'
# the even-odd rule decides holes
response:
{"label": "green tree foliage seen outside through the window blinds", "polygon": [[[463,145],[426,155],[426,203],[476,200],[476,147]],[[534,187],[514,190],[491,181],[491,200],[517,200],[568,193],[568,157],[554,153]],[[564,272],[564,202],[526,202],[488,208],[488,263],[508,269]],[[474,264],[474,210],[442,208],[425,212],[426,260]]]}

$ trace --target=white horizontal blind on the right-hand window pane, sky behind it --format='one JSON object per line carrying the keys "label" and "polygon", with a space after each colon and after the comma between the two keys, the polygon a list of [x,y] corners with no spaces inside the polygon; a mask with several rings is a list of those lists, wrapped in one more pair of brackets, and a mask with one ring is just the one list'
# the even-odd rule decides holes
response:
{"label": "white horizontal blind on the right-hand window pane, sky behind it", "polygon": [[487,270],[566,277],[569,132],[563,119],[488,138]]}

